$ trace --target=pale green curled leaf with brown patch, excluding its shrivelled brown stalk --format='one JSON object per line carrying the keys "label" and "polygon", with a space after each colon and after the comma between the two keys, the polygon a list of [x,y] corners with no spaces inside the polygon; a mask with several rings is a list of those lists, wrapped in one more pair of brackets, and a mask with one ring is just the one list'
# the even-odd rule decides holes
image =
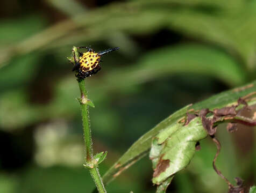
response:
{"label": "pale green curled leaf with brown patch, excluding its shrivelled brown stalk", "polygon": [[150,153],[155,170],[153,183],[159,185],[185,168],[195,154],[196,143],[207,136],[200,117],[194,118],[186,126],[176,123],[159,132],[153,140]]}

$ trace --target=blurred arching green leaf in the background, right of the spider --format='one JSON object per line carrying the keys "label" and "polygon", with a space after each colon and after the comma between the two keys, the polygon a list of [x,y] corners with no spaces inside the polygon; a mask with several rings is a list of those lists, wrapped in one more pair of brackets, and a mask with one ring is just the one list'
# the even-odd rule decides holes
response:
{"label": "blurred arching green leaf in the background, right of the spider", "polygon": [[221,79],[229,85],[241,85],[246,79],[245,71],[232,57],[200,44],[181,44],[151,51],[141,57],[135,70],[144,71],[151,78],[176,73],[200,73]]}

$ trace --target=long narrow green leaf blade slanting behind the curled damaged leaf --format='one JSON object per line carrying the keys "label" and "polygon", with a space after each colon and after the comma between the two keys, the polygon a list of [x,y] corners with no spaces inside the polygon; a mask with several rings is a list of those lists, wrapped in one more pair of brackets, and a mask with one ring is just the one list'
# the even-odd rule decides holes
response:
{"label": "long narrow green leaf blade slanting behind the curled damaged leaf", "polygon": [[[250,93],[252,94],[255,93],[255,90],[256,90],[256,81],[253,81],[250,84],[244,85],[242,87],[234,88],[233,90],[230,90],[230,91],[222,92],[220,94],[212,96],[207,100],[195,103],[194,105],[186,106],[178,110],[177,112],[175,112],[174,114],[170,115],[165,120],[160,122],[153,129],[151,129],[150,131],[145,133],[143,136],[141,136],[137,140],[137,142],[135,142],[130,147],[130,149],[127,150],[122,155],[122,157],[120,157],[120,159],[116,162],[116,164],[114,164],[108,170],[108,172],[105,173],[105,175],[103,176],[104,183],[109,183],[111,180],[115,179],[115,177],[120,175],[120,173],[122,173],[125,169],[129,168],[139,159],[144,157],[150,151],[152,139],[156,135],[158,135],[159,131],[161,130],[163,131],[167,129],[166,131],[171,132],[172,129],[168,129],[168,128],[179,128],[179,126],[177,125],[178,124],[177,121],[179,121],[182,117],[185,117],[189,109],[200,110],[202,108],[209,108],[210,110],[213,110],[215,108],[222,108],[225,106],[229,106],[235,103],[239,97],[245,96]],[[256,103],[256,101],[252,100],[250,101],[249,104],[253,105],[254,103]],[[196,123],[193,123],[193,124],[195,124],[198,131],[201,130],[199,125],[196,125]],[[202,131],[202,133],[198,134],[198,136],[195,136],[194,140],[203,138],[204,135],[205,133],[204,131]],[[191,146],[191,144],[186,144],[186,145]],[[158,147],[152,153],[157,154],[160,151],[161,151],[161,147]],[[160,179],[155,179],[155,180],[160,181]]]}

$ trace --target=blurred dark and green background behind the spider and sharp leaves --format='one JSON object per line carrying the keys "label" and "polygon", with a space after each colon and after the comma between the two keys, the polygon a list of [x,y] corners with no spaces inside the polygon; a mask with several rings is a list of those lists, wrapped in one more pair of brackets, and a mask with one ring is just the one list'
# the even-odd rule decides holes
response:
{"label": "blurred dark and green background behind the spider and sharp leaves", "polygon": [[[175,110],[250,82],[256,69],[253,0],[10,0],[0,6],[0,192],[91,192],[83,168],[79,88],[67,56],[96,51],[102,70],[87,78],[95,152],[104,172]],[[229,180],[256,179],[253,128],[225,125],[217,166]],[[226,192],[205,139],[167,192]],[[148,157],[108,192],[154,192]]]}

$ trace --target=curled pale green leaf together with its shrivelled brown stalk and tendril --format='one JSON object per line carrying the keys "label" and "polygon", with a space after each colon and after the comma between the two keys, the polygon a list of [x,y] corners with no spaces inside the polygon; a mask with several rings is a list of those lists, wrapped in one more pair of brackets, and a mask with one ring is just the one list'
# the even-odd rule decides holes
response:
{"label": "curled pale green leaf together with its shrivelled brown stalk and tendril", "polygon": [[[217,124],[225,120],[256,125],[256,121],[237,115],[239,109],[236,108],[240,103],[245,105],[242,109],[250,107],[245,100],[239,98],[237,105],[226,106],[219,109],[216,108],[213,112],[209,109],[202,109],[200,110],[199,117],[196,115],[191,116],[187,113],[187,121],[185,124],[182,124],[184,122],[183,120],[185,120],[182,118],[176,125],[161,130],[153,139],[150,153],[154,169],[153,183],[161,185],[169,177],[173,177],[176,172],[185,168],[193,158],[195,151],[198,150],[199,141],[210,135],[217,145],[217,153],[213,161],[216,173],[227,182],[230,193],[242,193],[244,191],[242,181],[237,177],[238,186],[234,187],[215,165],[215,161],[221,150],[221,144],[214,136]],[[207,116],[209,113],[210,116]],[[231,123],[228,127],[232,130],[235,125]]]}

